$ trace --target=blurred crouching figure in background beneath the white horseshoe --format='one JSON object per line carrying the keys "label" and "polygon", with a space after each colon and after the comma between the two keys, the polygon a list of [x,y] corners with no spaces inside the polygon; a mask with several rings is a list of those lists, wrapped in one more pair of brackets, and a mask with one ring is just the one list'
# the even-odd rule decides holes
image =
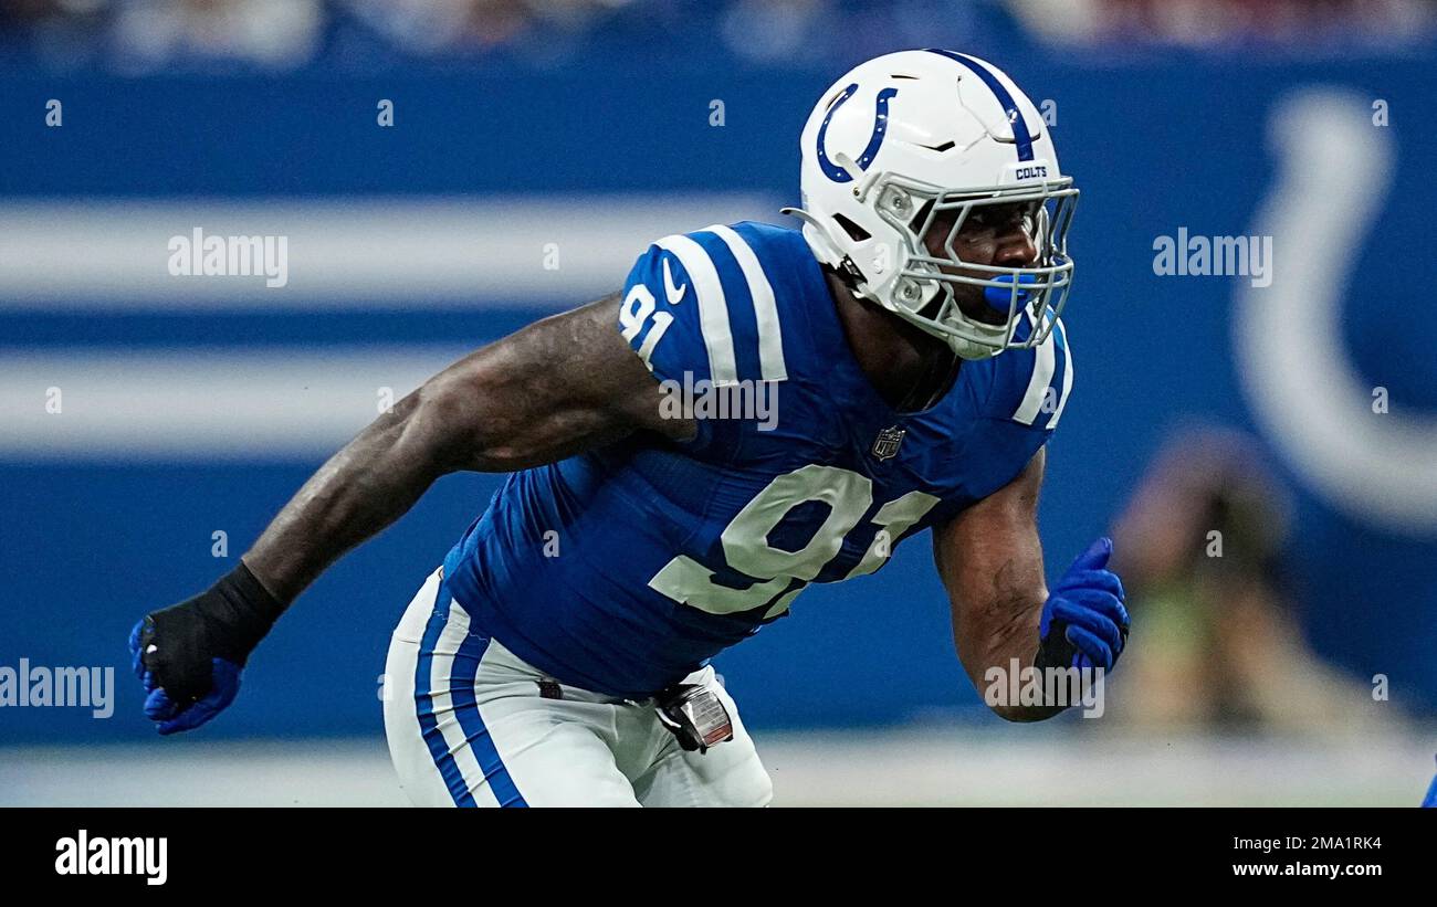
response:
{"label": "blurred crouching figure in background beneath the white horseshoe", "polygon": [[1114,530],[1144,642],[1124,679],[1140,695],[1115,716],[1154,730],[1388,723],[1388,703],[1303,640],[1283,580],[1288,538],[1285,492],[1255,441],[1200,429],[1168,442]]}

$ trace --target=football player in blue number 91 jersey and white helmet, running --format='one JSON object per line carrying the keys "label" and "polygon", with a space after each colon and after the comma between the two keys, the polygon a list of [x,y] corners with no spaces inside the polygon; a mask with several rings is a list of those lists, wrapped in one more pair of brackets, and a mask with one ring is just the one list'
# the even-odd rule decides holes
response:
{"label": "football player in blue number 91 jersey and white helmet, running", "polygon": [[[1073,383],[1078,191],[1049,129],[992,63],[910,50],[839,79],[800,149],[802,230],[655,241],[621,293],[435,375],[233,573],[145,617],[131,647],[160,732],[226,708],[285,608],[460,469],[509,476],[392,636],[385,732],[417,804],[767,804],[710,659],[924,530],[974,685],[1111,669],[1111,544],[1049,590],[1035,524]],[[775,418],[674,406],[734,390]]]}

